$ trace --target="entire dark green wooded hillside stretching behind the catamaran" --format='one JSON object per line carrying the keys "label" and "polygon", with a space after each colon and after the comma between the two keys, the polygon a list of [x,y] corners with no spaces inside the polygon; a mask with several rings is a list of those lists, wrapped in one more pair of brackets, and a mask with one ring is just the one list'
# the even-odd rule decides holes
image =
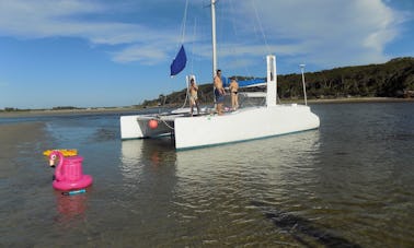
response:
{"label": "entire dark green wooded hillside stretching behind the catamaran", "polygon": [[[414,97],[414,58],[395,58],[382,64],[335,68],[304,74],[308,98],[338,97]],[[238,81],[246,79],[235,76]],[[301,74],[278,75],[277,92],[281,99],[303,97]],[[198,85],[202,103],[212,102],[212,84]],[[141,106],[184,103],[186,88],[170,95],[143,101]]]}

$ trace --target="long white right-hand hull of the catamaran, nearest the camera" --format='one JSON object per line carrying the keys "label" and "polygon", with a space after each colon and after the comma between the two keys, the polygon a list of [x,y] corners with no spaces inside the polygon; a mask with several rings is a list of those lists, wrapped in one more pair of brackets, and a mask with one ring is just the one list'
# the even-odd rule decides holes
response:
{"label": "long white right-hand hull of the catamaran, nearest the camera", "polygon": [[193,149],[317,129],[308,106],[277,105],[242,109],[226,116],[175,119],[175,147]]}

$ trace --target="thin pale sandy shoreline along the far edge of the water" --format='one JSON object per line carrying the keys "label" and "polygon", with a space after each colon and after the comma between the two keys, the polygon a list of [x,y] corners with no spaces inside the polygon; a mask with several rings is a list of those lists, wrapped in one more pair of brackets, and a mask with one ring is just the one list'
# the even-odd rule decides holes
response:
{"label": "thin pale sandy shoreline along the far edge of the water", "polygon": [[[303,99],[281,99],[283,104],[299,103]],[[332,104],[332,103],[395,103],[414,102],[414,98],[393,98],[393,97],[344,97],[334,99],[308,99],[308,104]],[[61,115],[100,115],[100,114],[124,114],[138,113],[142,109],[133,107],[119,108],[91,108],[91,109],[67,109],[67,110],[24,110],[24,111],[0,111],[0,118],[4,117],[35,117],[35,116],[61,116]]]}

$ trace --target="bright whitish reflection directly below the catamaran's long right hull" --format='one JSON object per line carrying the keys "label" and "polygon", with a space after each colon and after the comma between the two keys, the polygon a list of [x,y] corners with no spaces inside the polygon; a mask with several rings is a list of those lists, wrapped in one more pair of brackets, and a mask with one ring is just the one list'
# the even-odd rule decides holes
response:
{"label": "bright whitish reflection directly below the catamaran's long right hull", "polygon": [[197,181],[217,179],[272,186],[295,182],[298,173],[308,173],[319,153],[319,132],[214,146],[177,153],[177,175]]}

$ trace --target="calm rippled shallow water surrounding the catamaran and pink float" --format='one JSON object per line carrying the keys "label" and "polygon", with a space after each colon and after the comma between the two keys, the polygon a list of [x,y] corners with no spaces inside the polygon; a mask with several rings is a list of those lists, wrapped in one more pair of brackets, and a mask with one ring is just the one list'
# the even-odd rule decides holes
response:
{"label": "calm rippled shallow water surrounding the catamaran and pink float", "polygon": [[[45,139],[0,180],[0,246],[414,247],[414,103],[312,109],[319,130],[182,152],[122,142],[117,115],[35,118]],[[50,147],[78,149],[87,193],[51,188]]]}

